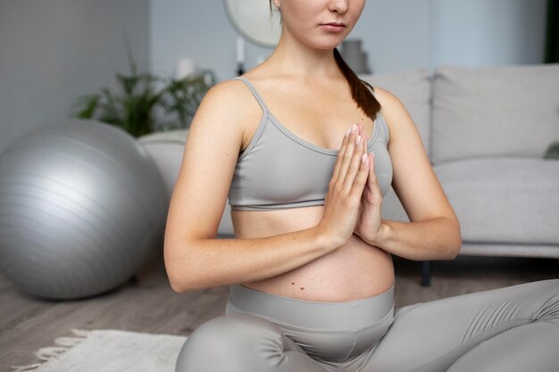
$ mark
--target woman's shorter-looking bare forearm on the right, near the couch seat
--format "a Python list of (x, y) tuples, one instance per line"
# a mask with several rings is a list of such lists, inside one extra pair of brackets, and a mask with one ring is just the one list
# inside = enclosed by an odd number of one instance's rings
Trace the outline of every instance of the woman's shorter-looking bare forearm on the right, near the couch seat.
[(452, 260), (462, 237), (455, 219), (438, 217), (418, 222), (382, 220), (375, 245), (407, 260)]

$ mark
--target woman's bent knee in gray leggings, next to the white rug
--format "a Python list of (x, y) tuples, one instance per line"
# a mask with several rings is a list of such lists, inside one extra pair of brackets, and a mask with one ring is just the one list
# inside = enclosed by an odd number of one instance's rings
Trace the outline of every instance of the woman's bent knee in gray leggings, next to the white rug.
[(279, 327), (263, 318), (243, 314), (213, 318), (188, 337), (176, 371), (257, 370), (270, 360), (263, 353), (281, 355), (283, 337)]

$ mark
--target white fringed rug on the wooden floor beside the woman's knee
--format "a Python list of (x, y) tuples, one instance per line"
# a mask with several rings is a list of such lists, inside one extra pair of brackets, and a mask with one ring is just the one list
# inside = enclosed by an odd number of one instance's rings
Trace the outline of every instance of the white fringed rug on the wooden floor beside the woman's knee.
[(187, 337), (113, 329), (72, 329), (56, 346), (35, 351), (42, 363), (13, 366), (13, 372), (172, 372)]

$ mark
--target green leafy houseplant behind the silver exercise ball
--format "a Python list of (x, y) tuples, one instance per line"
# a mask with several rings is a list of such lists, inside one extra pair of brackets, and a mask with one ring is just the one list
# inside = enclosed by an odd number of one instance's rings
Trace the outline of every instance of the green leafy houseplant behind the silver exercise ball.
[(139, 137), (154, 131), (188, 128), (205, 93), (213, 86), (213, 73), (184, 79), (138, 73), (129, 56), (129, 75), (116, 74), (119, 92), (104, 87), (82, 95), (73, 103), (72, 116), (113, 124)]

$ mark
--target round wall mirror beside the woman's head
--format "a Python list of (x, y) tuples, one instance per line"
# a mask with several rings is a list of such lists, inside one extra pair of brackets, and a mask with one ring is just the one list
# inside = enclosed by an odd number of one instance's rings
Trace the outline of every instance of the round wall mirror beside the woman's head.
[(281, 34), (280, 16), (272, 16), (265, 0), (223, 0), (229, 21), (248, 41), (274, 47)]

